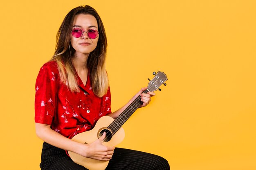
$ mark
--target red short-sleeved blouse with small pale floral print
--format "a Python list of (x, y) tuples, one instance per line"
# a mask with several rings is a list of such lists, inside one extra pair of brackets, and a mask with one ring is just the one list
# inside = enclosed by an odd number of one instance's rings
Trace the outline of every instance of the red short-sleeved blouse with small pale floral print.
[(97, 97), (89, 74), (86, 85), (80, 78), (78, 85), (80, 92), (70, 92), (60, 81), (56, 62), (45, 63), (36, 79), (35, 122), (50, 124), (53, 130), (72, 138), (92, 129), (100, 117), (111, 113), (109, 87), (105, 96)]

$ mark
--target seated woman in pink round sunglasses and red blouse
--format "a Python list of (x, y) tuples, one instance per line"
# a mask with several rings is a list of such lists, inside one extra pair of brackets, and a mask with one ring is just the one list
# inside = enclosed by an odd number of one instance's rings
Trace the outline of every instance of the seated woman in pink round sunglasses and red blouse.
[(106, 73), (106, 33), (98, 13), (90, 6), (72, 9), (56, 36), (52, 59), (40, 69), (36, 80), (36, 134), (43, 139), (40, 168), (85, 170), (65, 150), (83, 157), (109, 161), (106, 169), (169, 169), (157, 155), (102, 145), (106, 133), (91, 144), (71, 140), (94, 127), (102, 116), (117, 116), (137, 96), (148, 105), (153, 92), (142, 88), (124, 107), (110, 109)]

